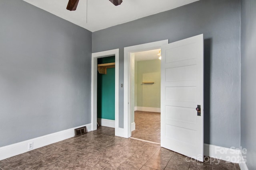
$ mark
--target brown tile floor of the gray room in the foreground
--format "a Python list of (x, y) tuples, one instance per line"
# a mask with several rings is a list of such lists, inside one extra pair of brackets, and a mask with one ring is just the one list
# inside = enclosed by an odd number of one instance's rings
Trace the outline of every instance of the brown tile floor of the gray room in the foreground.
[[(207, 158), (207, 157), (206, 157)], [(210, 161), (212, 160), (212, 161)], [(2, 170), (236, 170), (238, 164), (208, 158), (204, 163), (136, 139), (114, 136), (99, 127), (39, 149), (0, 160)]]

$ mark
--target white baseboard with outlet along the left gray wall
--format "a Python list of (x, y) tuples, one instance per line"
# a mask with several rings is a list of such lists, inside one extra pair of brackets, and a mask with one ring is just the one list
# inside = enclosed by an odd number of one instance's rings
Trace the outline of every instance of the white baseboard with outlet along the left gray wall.
[[(46, 145), (50, 145), (52, 143), (56, 143), (56, 142), (63, 141), (65, 139), (74, 137), (75, 136), (74, 129), (84, 127), (84, 126), (86, 126), (86, 130), (88, 132), (92, 131), (92, 123), (89, 123), (87, 125), (82, 125), (82, 126), (74, 127), (71, 129), (66, 129), (64, 131), (59, 131), (56, 133), (51, 133), (51, 134), (37, 137), (34, 139), (29, 139), (27, 141), (22, 141), (19, 143), (14, 143), (12, 145), (0, 147), (0, 160), (10, 158), (12, 156), (22, 154), (22, 153), (28, 152), (30, 150), (33, 150), (33, 149), (44, 147)], [(31, 143), (31, 142), (33, 142), (33, 149), (28, 150), (28, 143)]]

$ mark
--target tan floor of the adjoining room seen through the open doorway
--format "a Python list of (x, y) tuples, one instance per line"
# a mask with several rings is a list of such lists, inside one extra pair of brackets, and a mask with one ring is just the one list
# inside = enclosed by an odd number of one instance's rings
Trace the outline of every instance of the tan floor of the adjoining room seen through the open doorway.
[(136, 129), (132, 137), (146, 141), (161, 143), (160, 113), (149, 111), (135, 111), (134, 121)]

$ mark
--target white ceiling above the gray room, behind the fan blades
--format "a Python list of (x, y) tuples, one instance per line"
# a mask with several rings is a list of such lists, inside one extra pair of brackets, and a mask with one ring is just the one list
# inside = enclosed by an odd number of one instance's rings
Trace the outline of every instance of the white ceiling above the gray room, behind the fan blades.
[(66, 10), (68, 0), (24, 1), (94, 32), (198, 0), (123, 0), (119, 6), (114, 6), (109, 0), (79, 0), (76, 11)]

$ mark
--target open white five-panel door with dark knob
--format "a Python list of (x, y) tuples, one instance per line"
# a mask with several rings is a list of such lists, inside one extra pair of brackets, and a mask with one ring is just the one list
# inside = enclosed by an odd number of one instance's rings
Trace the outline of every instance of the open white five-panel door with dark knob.
[(161, 147), (199, 161), (204, 155), (203, 45), (201, 34), (161, 47)]

